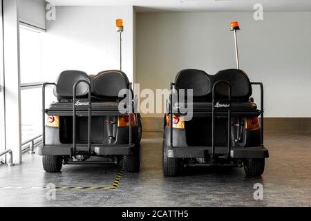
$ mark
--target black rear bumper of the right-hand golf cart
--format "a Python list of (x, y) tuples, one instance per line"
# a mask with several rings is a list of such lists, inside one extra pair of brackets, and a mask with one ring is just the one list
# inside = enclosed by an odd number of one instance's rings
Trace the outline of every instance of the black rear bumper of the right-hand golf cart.
[[(211, 155), (211, 146), (189, 146), (178, 147), (173, 146), (168, 148), (168, 157), (173, 158), (207, 158)], [(227, 147), (216, 146), (215, 155), (227, 155)], [(269, 152), (267, 148), (256, 147), (232, 147), (230, 151), (230, 158), (232, 159), (246, 159), (246, 158), (267, 158)]]

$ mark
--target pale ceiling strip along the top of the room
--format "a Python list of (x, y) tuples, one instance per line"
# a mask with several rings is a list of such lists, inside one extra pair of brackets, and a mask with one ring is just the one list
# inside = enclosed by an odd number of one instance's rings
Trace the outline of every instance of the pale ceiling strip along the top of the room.
[(47, 0), (55, 6), (137, 6), (140, 12), (254, 11), (255, 3), (270, 12), (311, 11), (310, 0)]

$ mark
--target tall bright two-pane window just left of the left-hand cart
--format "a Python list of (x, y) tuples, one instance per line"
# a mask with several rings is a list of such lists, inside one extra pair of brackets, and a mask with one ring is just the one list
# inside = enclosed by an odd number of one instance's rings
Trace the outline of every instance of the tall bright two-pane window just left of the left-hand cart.
[(21, 141), (41, 135), (41, 33), (19, 28), (21, 61)]

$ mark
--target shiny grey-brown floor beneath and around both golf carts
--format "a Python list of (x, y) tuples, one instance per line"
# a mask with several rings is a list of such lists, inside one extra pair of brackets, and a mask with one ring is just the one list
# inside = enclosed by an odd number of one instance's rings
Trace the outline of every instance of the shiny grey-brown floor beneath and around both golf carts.
[[(311, 133), (267, 133), (270, 151), (265, 173), (246, 178), (241, 168), (189, 169), (181, 177), (162, 175), (162, 133), (144, 133), (140, 173), (123, 173), (117, 189), (56, 190), (46, 186), (111, 186), (115, 165), (66, 165), (45, 173), (38, 155), (23, 164), (0, 166), (0, 206), (310, 206)], [(254, 184), (263, 184), (263, 200), (254, 200)]]

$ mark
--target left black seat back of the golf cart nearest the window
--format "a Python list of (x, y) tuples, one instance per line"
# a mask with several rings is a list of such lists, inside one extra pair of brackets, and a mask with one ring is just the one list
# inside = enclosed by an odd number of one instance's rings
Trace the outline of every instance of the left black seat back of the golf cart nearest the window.
[[(54, 87), (54, 95), (58, 100), (60, 99), (72, 99), (73, 98), (73, 86), (79, 80), (90, 81), (88, 75), (80, 70), (64, 70), (57, 77)], [(77, 97), (88, 96), (88, 85), (85, 83), (79, 83), (77, 85)]]

